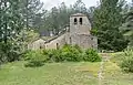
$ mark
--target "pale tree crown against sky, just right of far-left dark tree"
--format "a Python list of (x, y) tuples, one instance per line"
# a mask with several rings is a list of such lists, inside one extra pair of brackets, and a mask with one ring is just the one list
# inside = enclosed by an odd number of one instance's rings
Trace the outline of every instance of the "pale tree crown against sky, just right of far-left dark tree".
[[(24, 20), (25, 28), (35, 28), (34, 19), (38, 18), (43, 3), (40, 0), (21, 0), (21, 14)], [(38, 22), (39, 23), (39, 22)]]

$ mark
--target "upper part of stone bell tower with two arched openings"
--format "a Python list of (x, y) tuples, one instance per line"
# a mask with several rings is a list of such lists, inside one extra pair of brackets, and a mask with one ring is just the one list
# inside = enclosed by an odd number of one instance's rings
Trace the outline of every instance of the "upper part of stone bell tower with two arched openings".
[(71, 34), (90, 34), (91, 23), (86, 15), (82, 13), (72, 14), (70, 17)]

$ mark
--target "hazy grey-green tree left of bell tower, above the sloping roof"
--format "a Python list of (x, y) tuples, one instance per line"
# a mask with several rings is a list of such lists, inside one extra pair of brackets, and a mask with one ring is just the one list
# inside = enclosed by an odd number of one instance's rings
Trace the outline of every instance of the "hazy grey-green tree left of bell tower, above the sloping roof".
[(53, 7), (49, 13), (43, 18), (43, 26), (40, 31), (52, 31), (53, 34), (58, 35), (60, 31), (69, 24), (70, 13), (64, 2), (59, 7)]

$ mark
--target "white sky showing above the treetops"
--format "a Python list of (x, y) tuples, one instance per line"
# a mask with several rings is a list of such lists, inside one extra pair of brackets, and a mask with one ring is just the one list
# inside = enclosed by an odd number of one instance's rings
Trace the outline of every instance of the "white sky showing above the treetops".
[[(52, 7), (57, 7), (61, 2), (65, 2), (66, 6), (73, 4), (76, 0), (41, 0), (44, 2), (44, 9), (49, 10)], [(96, 6), (99, 0), (82, 0), (86, 7)], [(126, 0), (127, 2), (131, 2), (131, 0)]]

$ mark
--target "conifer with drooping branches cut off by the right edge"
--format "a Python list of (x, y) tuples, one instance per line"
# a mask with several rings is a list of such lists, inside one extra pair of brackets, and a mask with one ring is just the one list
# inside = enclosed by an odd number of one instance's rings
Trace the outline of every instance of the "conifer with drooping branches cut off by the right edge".
[(130, 41), (130, 46), (133, 46), (133, 3), (132, 6), (127, 4), (126, 6), (126, 11), (124, 10), (124, 23), (122, 24), (122, 26), (120, 28), (120, 30), (122, 31), (122, 33), (124, 34), (124, 36), (126, 39), (129, 39)]

